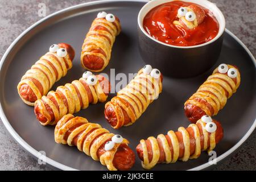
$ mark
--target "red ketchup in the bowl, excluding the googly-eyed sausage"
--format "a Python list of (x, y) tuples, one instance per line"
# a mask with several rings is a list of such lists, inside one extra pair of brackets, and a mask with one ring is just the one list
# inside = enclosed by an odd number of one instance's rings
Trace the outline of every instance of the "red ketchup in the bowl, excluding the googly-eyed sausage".
[[(218, 34), (219, 24), (208, 9), (199, 6), (205, 13), (204, 21), (193, 29), (175, 26), (177, 11), (180, 7), (196, 5), (195, 3), (172, 1), (156, 6), (147, 13), (143, 27), (152, 38), (174, 46), (196, 46), (209, 42)], [(196, 13), (196, 12), (195, 12)]]

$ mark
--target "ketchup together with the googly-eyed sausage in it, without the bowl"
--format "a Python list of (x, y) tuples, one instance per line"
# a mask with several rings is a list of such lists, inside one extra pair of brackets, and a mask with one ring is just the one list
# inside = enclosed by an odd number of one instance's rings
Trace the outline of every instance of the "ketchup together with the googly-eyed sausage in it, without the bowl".
[(210, 10), (191, 2), (172, 1), (154, 7), (143, 19), (146, 32), (174, 46), (196, 46), (214, 39), (219, 24)]

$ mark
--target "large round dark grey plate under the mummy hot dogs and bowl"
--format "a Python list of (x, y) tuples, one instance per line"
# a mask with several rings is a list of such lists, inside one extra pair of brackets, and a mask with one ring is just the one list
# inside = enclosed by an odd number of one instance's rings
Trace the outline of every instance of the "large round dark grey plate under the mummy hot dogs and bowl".
[[(46, 53), (48, 47), (59, 42), (71, 44), (76, 49), (76, 57), (72, 70), (52, 89), (55, 90), (59, 85), (80, 78), (84, 72), (80, 65), (81, 45), (92, 20), (101, 10), (117, 15), (122, 23), (122, 33), (117, 37), (112, 60), (104, 72), (109, 74), (110, 68), (115, 68), (116, 74), (137, 72), (144, 65), (137, 41), (137, 15), (144, 3), (145, 1), (100, 1), (59, 11), (28, 28), (7, 49), (0, 65), (0, 114), (11, 135), (32, 155), (38, 157), (38, 151), (45, 151), (47, 163), (60, 169), (106, 169), (100, 162), (95, 162), (76, 147), (55, 143), (54, 127), (43, 127), (39, 124), (33, 107), (20, 100), (16, 85), (27, 69)], [(214, 117), (222, 122), (225, 131), (224, 139), (216, 147), (218, 162), (241, 146), (256, 125), (255, 59), (241, 41), (228, 30), (225, 32), (220, 59), (214, 68), (220, 63), (236, 64), (240, 68), (242, 82), (237, 93)], [(163, 93), (159, 99), (148, 107), (134, 125), (117, 131), (105, 121), (105, 104), (91, 105), (76, 115), (86, 117), (90, 122), (100, 123), (113, 133), (123, 135), (130, 140), (130, 147), (135, 151), (140, 139), (166, 134), (168, 130), (177, 130), (179, 126), (189, 125), (184, 115), (183, 104), (212, 71), (213, 68), (204, 75), (183, 80), (164, 77)], [(158, 164), (154, 169), (204, 169), (209, 167), (208, 159), (209, 156), (203, 153), (196, 160)], [(142, 169), (138, 158), (133, 169)]]

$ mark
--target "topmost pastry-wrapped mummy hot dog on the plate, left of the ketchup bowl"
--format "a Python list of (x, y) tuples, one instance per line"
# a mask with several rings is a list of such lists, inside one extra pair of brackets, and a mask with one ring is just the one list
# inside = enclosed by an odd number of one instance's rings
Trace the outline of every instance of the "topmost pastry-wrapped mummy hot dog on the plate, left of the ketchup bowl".
[(82, 67), (93, 72), (102, 71), (109, 64), (115, 36), (120, 31), (117, 16), (104, 11), (98, 13), (82, 45)]

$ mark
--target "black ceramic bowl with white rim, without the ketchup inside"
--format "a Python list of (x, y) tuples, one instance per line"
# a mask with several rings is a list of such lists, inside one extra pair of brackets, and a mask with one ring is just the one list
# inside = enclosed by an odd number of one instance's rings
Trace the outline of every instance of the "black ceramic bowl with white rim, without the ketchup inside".
[(214, 14), (220, 25), (217, 36), (210, 42), (197, 46), (172, 46), (160, 42), (143, 28), (146, 14), (158, 5), (175, 0), (153, 0), (144, 5), (138, 15), (139, 51), (146, 64), (158, 68), (164, 76), (186, 78), (208, 71), (220, 56), (225, 31), (225, 18), (220, 9), (207, 0), (184, 0), (201, 5)]

